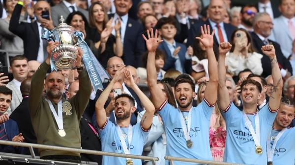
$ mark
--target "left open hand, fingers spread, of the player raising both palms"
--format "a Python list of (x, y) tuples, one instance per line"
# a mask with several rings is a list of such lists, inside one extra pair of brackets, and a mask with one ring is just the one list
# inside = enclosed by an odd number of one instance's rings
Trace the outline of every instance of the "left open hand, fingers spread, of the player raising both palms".
[(154, 52), (156, 51), (157, 47), (163, 42), (163, 40), (157, 41), (158, 30), (155, 31), (155, 35), (153, 34), (153, 29), (150, 29), (150, 34), (149, 34), (149, 30), (147, 30), (147, 33), (148, 33), (148, 39), (144, 34), (142, 36), (144, 40), (146, 41), (148, 51)]

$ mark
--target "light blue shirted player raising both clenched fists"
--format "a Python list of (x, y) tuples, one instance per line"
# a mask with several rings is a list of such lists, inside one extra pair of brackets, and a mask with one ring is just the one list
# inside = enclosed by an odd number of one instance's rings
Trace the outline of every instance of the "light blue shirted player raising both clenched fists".
[(247, 79), (240, 85), (241, 99), (243, 101), (243, 110), (240, 111), (231, 102), (225, 85), (225, 57), (230, 48), (229, 43), (221, 43), (218, 58), (218, 104), (226, 121), (227, 129), (224, 162), (266, 165), (266, 140), (280, 106), (283, 88), (283, 80), (275, 49), (273, 45), (261, 48), (271, 61), (273, 89), (268, 103), (259, 111), (257, 110), (257, 103), (262, 95), (262, 86), (253, 79)]

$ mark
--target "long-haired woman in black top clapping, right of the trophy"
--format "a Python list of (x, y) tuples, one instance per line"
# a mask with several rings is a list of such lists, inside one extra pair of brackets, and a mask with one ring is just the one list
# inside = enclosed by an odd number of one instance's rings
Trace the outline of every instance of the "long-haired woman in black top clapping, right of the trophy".
[[(123, 55), (123, 46), (120, 36), (120, 20), (116, 21), (112, 27), (113, 19), (108, 20), (105, 7), (99, 2), (94, 2), (89, 8), (89, 47), (100, 61), (103, 67), (107, 66), (107, 61), (113, 56)], [(112, 34), (115, 29), (116, 36)]]

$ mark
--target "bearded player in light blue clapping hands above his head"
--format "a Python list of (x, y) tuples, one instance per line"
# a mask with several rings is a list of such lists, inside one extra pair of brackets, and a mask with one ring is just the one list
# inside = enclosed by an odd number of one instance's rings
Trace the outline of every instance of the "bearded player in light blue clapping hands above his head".
[[(153, 63), (154, 64), (154, 63)], [(130, 87), (139, 97), (146, 109), (141, 122), (131, 126), (131, 114), (135, 112), (134, 98), (129, 94), (119, 94), (115, 98), (115, 116), (117, 125), (109, 122), (104, 105), (108, 99), (113, 86), (120, 79), (121, 74), (125, 75), (125, 84)], [(100, 94), (95, 104), (96, 121), (99, 128), (99, 135), (102, 143), (102, 151), (141, 155), (144, 144), (148, 137), (155, 108), (148, 97), (134, 83), (132, 74), (125, 65), (122, 65), (108, 85)], [(103, 156), (102, 165), (141, 165), (141, 160), (130, 158), (119, 158)]]

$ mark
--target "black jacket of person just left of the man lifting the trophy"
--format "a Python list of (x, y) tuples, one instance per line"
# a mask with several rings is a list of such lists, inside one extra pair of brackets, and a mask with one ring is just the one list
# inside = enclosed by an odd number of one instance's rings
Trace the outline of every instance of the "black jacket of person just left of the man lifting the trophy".
[[(28, 97), (23, 98), (21, 104), (12, 112), (9, 118), (17, 122), (19, 131), (25, 138), (24, 142), (37, 143), (37, 138), (29, 115)], [(39, 154), (38, 149), (35, 148), (34, 151), (36, 155)], [(29, 148), (24, 148), (23, 154), (30, 155)]]

